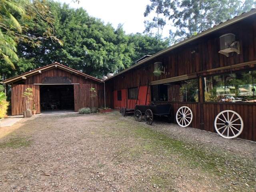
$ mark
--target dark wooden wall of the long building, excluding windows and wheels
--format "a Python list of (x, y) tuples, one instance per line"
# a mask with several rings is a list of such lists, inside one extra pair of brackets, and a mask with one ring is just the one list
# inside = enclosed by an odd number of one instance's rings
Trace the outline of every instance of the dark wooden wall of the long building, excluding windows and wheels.
[[(232, 53), (229, 57), (218, 53), (220, 51), (220, 36), (233, 33), (240, 44), (240, 54)], [(162, 62), (165, 67), (165, 74), (159, 77), (153, 75), (154, 62)], [(177, 102), (180, 100), (178, 87), (173, 85), (168, 90), (169, 103), (172, 103), (173, 122), (176, 123), (175, 114), (181, 106), (188, 106), (194, 113), (194, 119), (190, 124), (194, 128), (215, 132), (214, 118), (223, 110), (234, 110), (240, 114), (244, 121), (244, 130), (240, 138), (256, 141), (256, 104), (246, 103), (207, 103), (203, 100), (204, 86), (202, 78), (208, 75), (234, 73), (241, 70), (256, 70), (256, 16), (216, 30), (212, 34), (203, 36), (174, 50), (134, 67), (127, 72), (114, 76), (105, 83), (111, 91), (107, 96), (107, 102), (112, 104), (113, 91), (146, 86), (148, 80), (156, 82), (168, 78), (182, 76), (196, 77), (199, 80), (199, 102)], [(174, 80), (174, 81), (177, 81)], [(170, 79), (170, 82), (172, 80)], [(158, 84), (161, 84), (159, 82)], [(173, 100), (175, 98), (175, 100)], [(152, 101), (152, 98), (150, 98)], [(168, 102), (155, 102), (155, 104), (166, 104)], [(250, 114), (246, 113), (250, 111)]]

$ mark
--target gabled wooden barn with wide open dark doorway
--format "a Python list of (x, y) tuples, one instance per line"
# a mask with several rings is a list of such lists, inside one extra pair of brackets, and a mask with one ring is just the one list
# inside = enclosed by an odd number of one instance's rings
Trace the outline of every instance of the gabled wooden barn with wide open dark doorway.
[(26, 88), (32, 88), (34, 98), (30, 109), (35, 106), (37, 114), (41, 110), (77, 111), (83, 107), (91, 107), (90, 88), (95, 88), (98, 92), (95, 106), (98, 108), (104, 105), (102, 80), (57, 62), (4, 80), (3, 83), (11, 85), (12, 115), (20, 115), (26, 110), (23, 97)]

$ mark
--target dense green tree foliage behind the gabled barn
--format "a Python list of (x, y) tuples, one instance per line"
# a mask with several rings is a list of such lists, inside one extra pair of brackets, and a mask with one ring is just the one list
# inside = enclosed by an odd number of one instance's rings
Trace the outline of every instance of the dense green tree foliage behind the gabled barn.
[[(116, 29), (100, 19), (89, 16), (82, 8), (70, 8), (67, 4), (48, 1), (54, 34), (63, 45), (51, 38), (40, 38), (40, 43), (18, 42), (16, 70), (3, 60), (0, 75), (3, 79), (28, 70), (59, 62), (88, 75), (101, 78), (109, 72), (121, 71), (146, 54), (154, 54), (168, 46), (168, 41), (142, 35), (126, 35), (122, 25)], [(42, 37), (48, 28), (46, 20), (18, 18), (26, 26), (23, 36)]]

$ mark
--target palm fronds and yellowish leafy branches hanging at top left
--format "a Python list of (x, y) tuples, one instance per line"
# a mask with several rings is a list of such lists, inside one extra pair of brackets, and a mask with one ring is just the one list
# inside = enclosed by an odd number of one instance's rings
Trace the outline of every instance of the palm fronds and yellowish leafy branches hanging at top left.
[[(54, 27), (52, 17), (46, 6), (45, 0), (0, 0), (0, 56), (4, 61), (14, 69), (12, 59), (18, 60), (16, 55), (16, 42), (24, 41), (33, 46), (39, 45), (41, 39), (50, 38), (53, 42), (62, 44), (54, 36)], [(43, 20), (47, 25), (40, 36), (24, 35), (28, 25), (21, 25), (18, 19), (22, 17), (25, 20), (40, 22)]]

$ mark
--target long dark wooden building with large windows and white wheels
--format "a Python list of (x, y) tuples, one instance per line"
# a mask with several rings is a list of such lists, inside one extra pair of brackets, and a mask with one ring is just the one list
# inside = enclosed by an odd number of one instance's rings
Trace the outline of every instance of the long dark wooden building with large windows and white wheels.
[(104, 82), (112, 108), (129, 112), (136, 103), (171, 104), (172, 122), (180, 126), (256, 141), (256, 10), (170, 46)]

